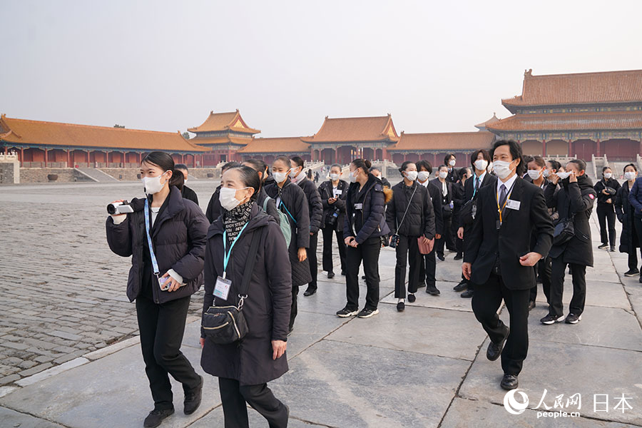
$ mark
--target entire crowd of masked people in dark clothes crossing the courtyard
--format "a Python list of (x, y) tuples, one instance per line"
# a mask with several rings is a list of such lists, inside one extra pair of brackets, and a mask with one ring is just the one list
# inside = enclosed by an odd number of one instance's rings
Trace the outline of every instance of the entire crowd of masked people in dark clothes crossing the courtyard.
[[(271, 165), (258, 159), (230, 162), (203, 213), (185, 185), (187, 166), (175, 165), (167, 153), (149, 153), (141, 163), (146, 198), (131, 200), (131, 212), (110, 215), (106, 223), (111, 250), (132, 256), (127, 295), (136, 301), (154, 400), (144, 426), (158, 427), (174, 412), (168, 374), (183, 384), (185, 414), (200, 405), (203, 379), (180, 343), (190, 296), (203, 284), (200, 364), (218, 377), (225, 427), (248, 427), (246, 403), (270, 427), (287, 426), (289, 409), (267, 382), (287, 372), (287, 337), (295, 329), (300, 287), (306, 286), (304, 297), (325, 291), (317, 281), (319, 232), (322, 271), (329, 279), (345, 277), (346, 303), (337, 317), (379, 313), (384, 247), (396, 252), (399, 312), (422, 287), (440, 295), (436, 266), (446, 260), (446, 250), (462, 260), (462, 280), (453, 290), (472, 298), (474, 315), (490, 338), (486, 357), (501, 357), (504, 389), (519, 384), (537, 283), (549, 306), (542, 325), (581, 320), (586, 267), (593, 265), (589, 218), (596, 200), (598, 248), (616, 250), (617, 218), (619, 250), (628, 253), (626, 275), (640, 274), (642, 178), (636, 165), (623, 169), (623, 185), (608, 167), (593, 185), (584, 161), (561, 165), (524, 156), (514, 141), (474, 151), (466, 163), (456, 168), (453, 154), (437, 168), (407, 161), (399, 168), (401, 180), (391, 186), (382, 170), (359, 158), (349, 168), (330, 165), (327, 180), (317, 186), (319, 173), (306, 170), (297, 156), (279, 156)], [(564, 316), (566, 267), (573, 297)], [(361, 268), (367, 291), (360, 303)], [(502, 301), (509, 325), (497, 315)], [(214, 326), (205, 323), (210, 315), (219, 317)], [(216, 324), (220, 317), (227, 322)]]

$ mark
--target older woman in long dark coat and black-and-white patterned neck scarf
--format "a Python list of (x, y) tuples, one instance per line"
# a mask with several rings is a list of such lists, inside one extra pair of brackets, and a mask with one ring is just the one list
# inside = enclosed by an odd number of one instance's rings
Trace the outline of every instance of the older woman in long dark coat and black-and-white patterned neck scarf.
[[(287, 372), (292, 277), (285, 238), (276, 221), (255, 203), (255, 192), (260, 188), (255, 170), (247, 166), (231, 168), (223, 174), (222, 185), (223, 190), (234, 189), (235, 193), (229, 201), (221, 199), (223, 215), (208, 230), (203, 312), (212, 305), (238, 305), (238, 287), (248, 270), (250, 243), (255, 233), (261, 238), (258, 253), (250, 260), (252, 276), (248, 297), (243, 301), (248, 334), (240, 342), (218, 345), (202, 330), (200, 365), (219, 378), (225, 427), (248, 427), (246, 402), (263, 414), (270, 427), (286, 427), (287, 407), (267, 387), (267, 382)], [(230, 259), (225, 266), (226, 252), (230, 252)], [(227, 300), (213, 294), (223, 272), (232, 282)]]

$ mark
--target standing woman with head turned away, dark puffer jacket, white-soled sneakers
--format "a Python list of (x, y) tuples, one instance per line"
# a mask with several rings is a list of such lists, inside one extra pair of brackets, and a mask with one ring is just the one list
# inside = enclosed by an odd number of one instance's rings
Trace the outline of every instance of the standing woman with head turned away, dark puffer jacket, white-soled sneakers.
[[(345, 286), (347, 303), (337, 317), (370, 318), (379, 310), (379, 252), (382, 237), (390, 232), (384, 215), (385, 205), (392, 198), (392, 190), (384, 188), (379, 178), (369, 173), (370, 161), (355, 159), (350, 163), (350, 188), (345, 200), (343, 222), (344, 242), (347, 246)], [(385, 238), (383, 238), (385, 240)], [(363, 261), (366, 277), (366, 304), (359, 310), (359, 267)], [(357, 313), (358, 312), (358, 313)]]

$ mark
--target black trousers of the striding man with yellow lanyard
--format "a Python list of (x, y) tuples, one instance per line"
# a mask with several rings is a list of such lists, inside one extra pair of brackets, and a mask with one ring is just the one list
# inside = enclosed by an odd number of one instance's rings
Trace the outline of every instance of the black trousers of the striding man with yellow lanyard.
[(511, 332), (501, 351), (501, 369), (504, 374), (517, 376), (529, 352), (529, 292), (528, 288), (509, 290), (502, 277), (494, 273), (491, 273), (485, 284), (477, 284), (475, 287), (473, 312), (492, 342), (501, 342), (506, 335), (506, 326), (497, 315), (502, 299), (509, 311)]

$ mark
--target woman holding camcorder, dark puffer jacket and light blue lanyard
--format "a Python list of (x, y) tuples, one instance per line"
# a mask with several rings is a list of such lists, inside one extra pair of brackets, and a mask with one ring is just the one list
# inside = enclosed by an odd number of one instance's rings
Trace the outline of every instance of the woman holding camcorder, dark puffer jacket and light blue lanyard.
[[(208, 220), (198, 205), (184, 199), (177, 185), (183, 174), (167, 153), (151, 152), (141, 163), (148, 198), (131, 200), (133, 213), (107, 219), (107, 242), (123, 257), (132, 256), (127, 296), (136, 300), (138, 329), (154, 409), (145, 427), (157, 427), (174, 412), (168, 373), (183, 384), (184, 412), (200, 405), (203, 378), (180, 352), (190, 296), (203, 279)], [(151, 243), (151, 245), (150, 245)]]

